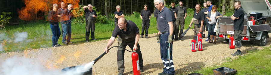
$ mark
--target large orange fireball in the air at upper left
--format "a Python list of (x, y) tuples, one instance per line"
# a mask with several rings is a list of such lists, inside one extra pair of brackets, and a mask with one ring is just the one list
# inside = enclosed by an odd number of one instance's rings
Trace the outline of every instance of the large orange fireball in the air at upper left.
[(23, 0), (25, 7), (22, 7), (18, 10), (19, 18), (22, 20), (37, 20), (42, 19), (44, 15), (48, 14), (48, 12), (52, 9), (53, 4), (58, 4), (58, 8), (60, 8), (60, 3), (64, 2), (66, 4), (73, 4), (73, 8), (79, 7), (79, 0)]

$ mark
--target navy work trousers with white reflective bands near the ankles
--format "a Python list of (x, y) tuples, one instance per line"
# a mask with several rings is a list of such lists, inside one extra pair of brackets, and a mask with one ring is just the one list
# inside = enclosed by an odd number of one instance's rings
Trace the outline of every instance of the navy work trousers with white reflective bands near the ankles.
[[(165, 34), (160, 35), (160, 55), (161, 55), (161, 59), (164, 64), (163, 73), (167, 73), (167, 74), (171, 75), (171, 74), (175, 73), (174, 64), (173, 64), (173, 60), (172, 60), (172, 45), (173, 45), (173, 43), (170, 44), (170, 61), (169, 61), (169, 60), (167, 60), (168, 43), (166, 43), (166, 41), (168, 40), (168, 35), (169, 35), (169, 33), (165, 33)], [(172, 39), (173, 39), (173, 37), (172, 37)]]

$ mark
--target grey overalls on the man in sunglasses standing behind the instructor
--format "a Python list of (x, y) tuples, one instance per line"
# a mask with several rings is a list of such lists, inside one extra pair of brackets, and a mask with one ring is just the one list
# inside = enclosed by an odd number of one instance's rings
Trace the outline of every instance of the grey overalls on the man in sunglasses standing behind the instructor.
[[(178, 12), (176, 13), (176, 16), (177, 16), (177, 19), (176, 19), (176, 31), (175, 31), (175, 37), (178, 37), (179, 35), (179, 39), (181, 39), (183, 36), (182, 36), (182, 33), (183, 33), (183, 28), (184, 28), (184, 23), (185, 23), (185, 19), (184, 19), (184, 16), (185, 16), (185, 13), (184, 13), (184, 6), (182, 6), (182, 8), (180, 6), (178, 6)], [(179, 30), (179, 26), (180, 26), (180, 33), (178, 32)], [(179, 34), (178, 34), (179, 33)]]

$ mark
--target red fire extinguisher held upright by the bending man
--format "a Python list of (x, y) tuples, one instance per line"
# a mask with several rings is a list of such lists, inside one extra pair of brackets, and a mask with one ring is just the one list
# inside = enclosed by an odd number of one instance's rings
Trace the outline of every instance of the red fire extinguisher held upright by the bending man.
[(133, 50), (133, 53), (132, 53), (132, 63), (133, 63), (134, 75), (140, 75), (139, 59), (138, 59), (138, 54), (136, 53), (135, 49)]

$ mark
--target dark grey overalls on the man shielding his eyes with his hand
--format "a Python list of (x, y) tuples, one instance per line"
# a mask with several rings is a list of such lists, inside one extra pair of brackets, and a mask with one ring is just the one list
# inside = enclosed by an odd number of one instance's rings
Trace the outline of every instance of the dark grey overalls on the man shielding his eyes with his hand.
[(91, 30), (91, 39), (95, 39), (94, 32), (95, 32), (96, 18), (93, 17), (92, 15), (94, 15), (94, 14), (89, 13), (89, 17), (86, 19), (86, 40), (89, 40), (90, 30)]

